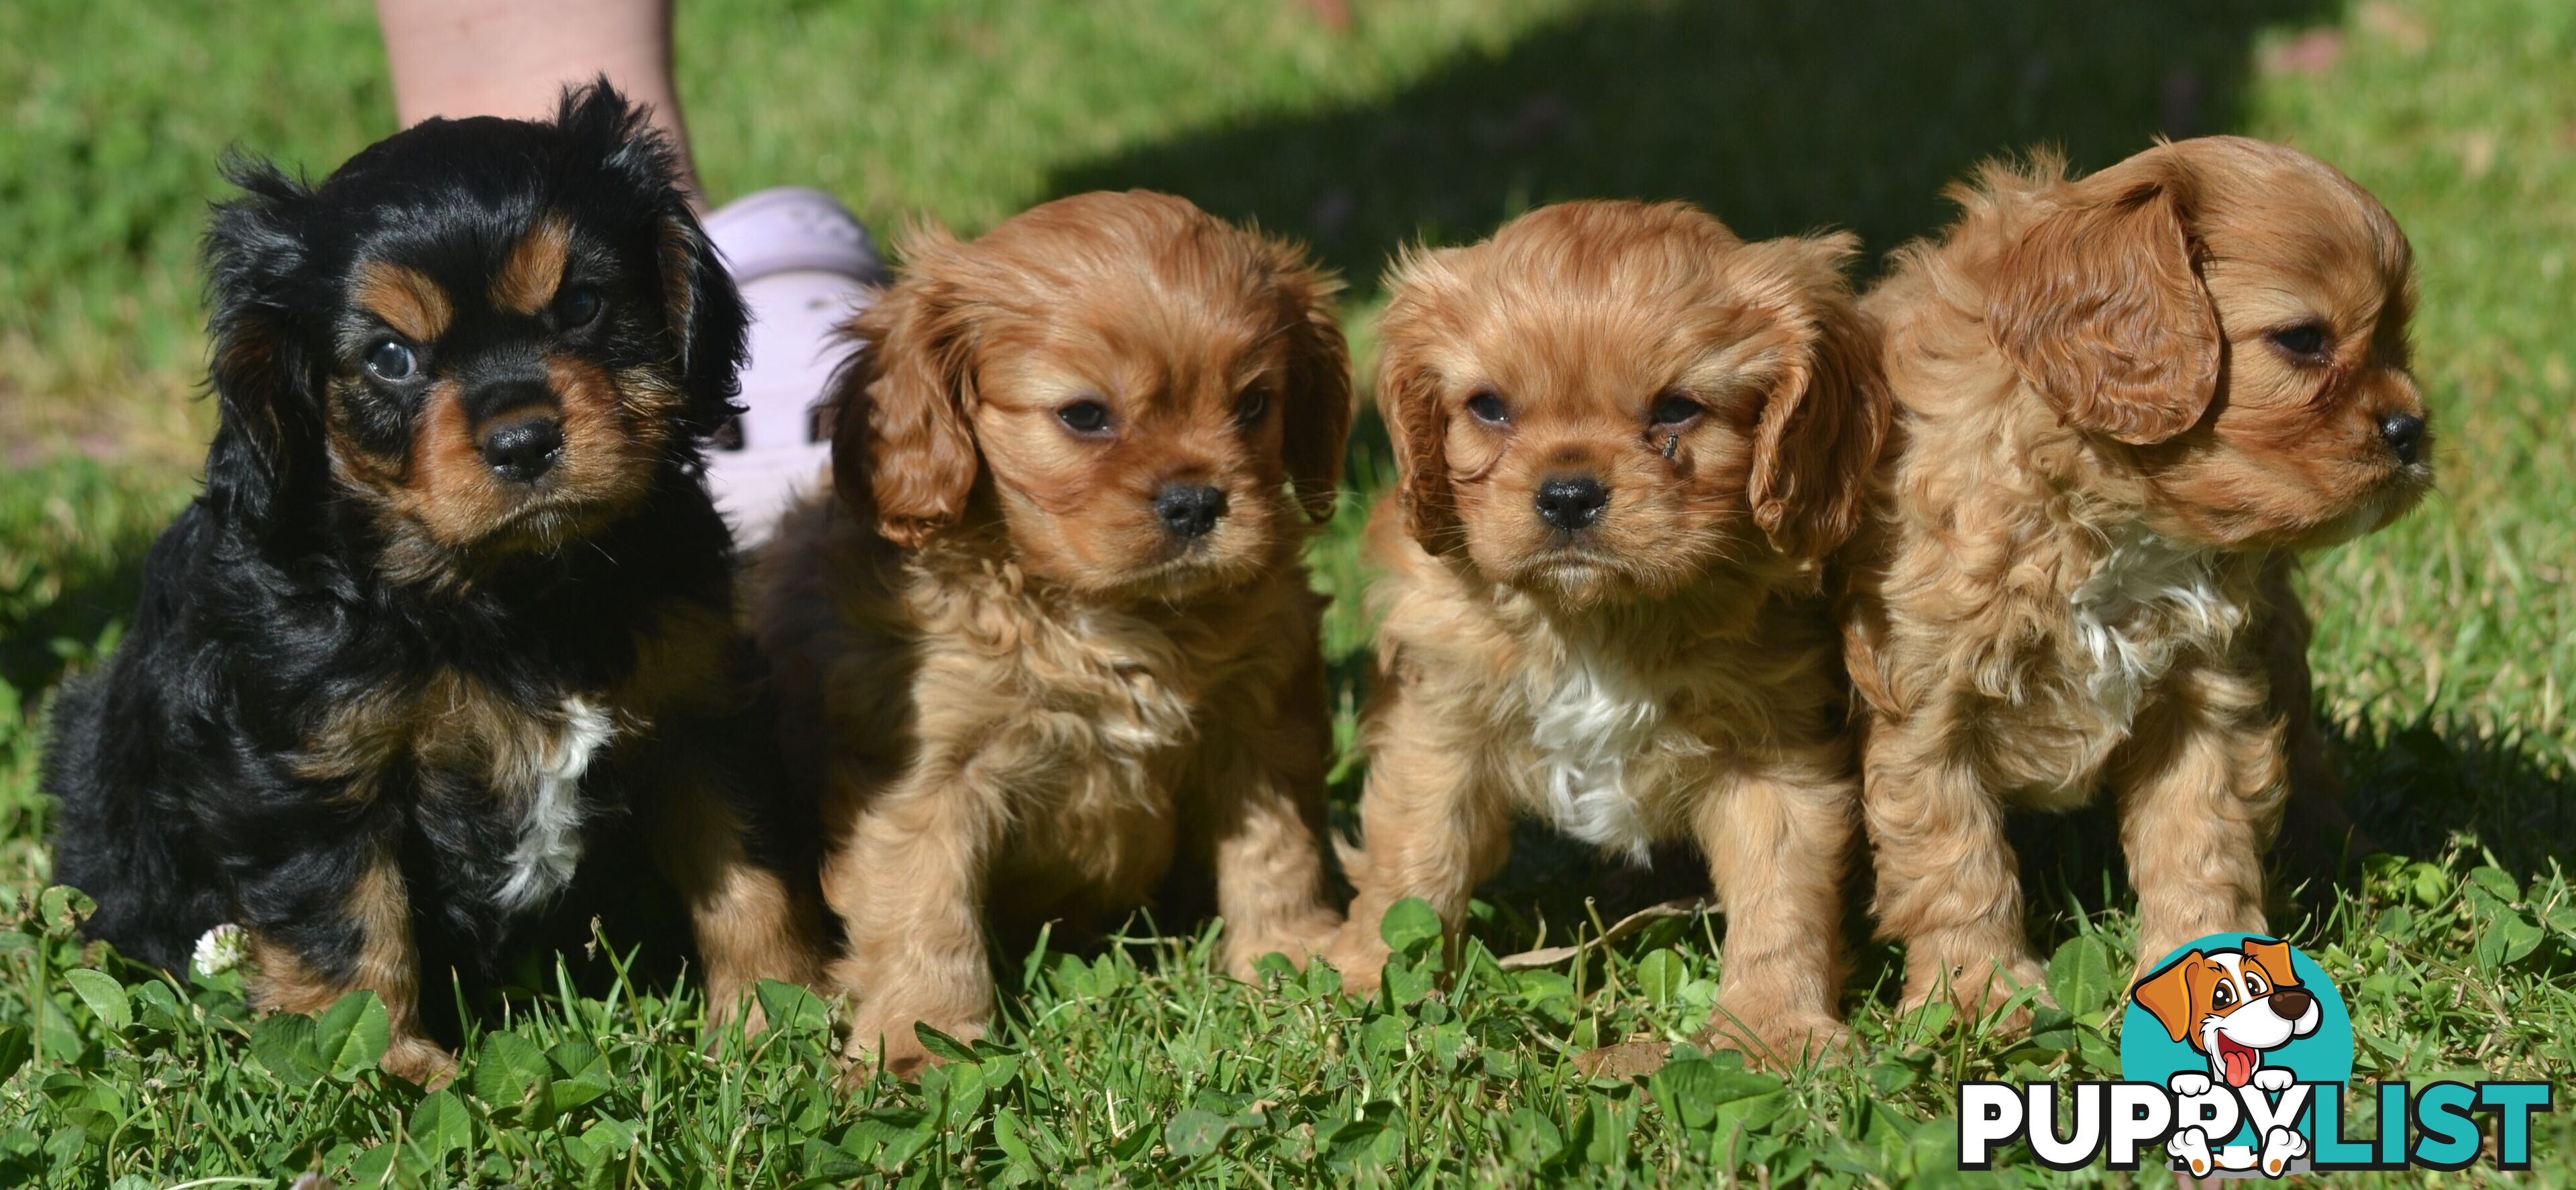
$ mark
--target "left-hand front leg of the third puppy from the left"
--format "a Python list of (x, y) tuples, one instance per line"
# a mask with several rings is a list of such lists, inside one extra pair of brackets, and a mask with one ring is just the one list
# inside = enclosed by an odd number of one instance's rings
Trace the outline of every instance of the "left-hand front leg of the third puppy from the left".
[(1386, 971), (1386, 909), (1419, 896), (1440, 912), (1450, 932), (1476, 891), (1512, 847), (1512, 811), (1492, 780), (1476, 770), (1473, 747), (1440, 747), (1406, 695), (1373, 732), (1368, 786), (1360, 791), (1363, 855), (1350, 860), (1350, 920), (1324, 958), (1342, 987), (1376, 992)]

